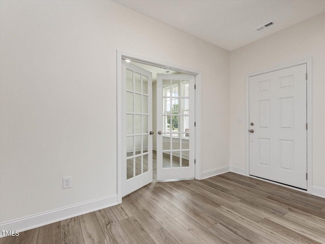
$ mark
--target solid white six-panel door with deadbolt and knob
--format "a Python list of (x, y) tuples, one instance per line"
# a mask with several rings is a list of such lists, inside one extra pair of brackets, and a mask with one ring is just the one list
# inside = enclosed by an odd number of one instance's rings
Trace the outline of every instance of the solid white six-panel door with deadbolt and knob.
[(249, 174), (307, 189), (306, 64), (249, 78)]

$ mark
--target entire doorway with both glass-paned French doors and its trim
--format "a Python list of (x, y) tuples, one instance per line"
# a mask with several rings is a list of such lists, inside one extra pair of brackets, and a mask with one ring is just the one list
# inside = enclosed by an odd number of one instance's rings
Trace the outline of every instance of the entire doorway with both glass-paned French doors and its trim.
[[(201, 72), (117, 52), (117, 192), (201, 178)], [(194, 127), (195, 126), (195, 127)]]

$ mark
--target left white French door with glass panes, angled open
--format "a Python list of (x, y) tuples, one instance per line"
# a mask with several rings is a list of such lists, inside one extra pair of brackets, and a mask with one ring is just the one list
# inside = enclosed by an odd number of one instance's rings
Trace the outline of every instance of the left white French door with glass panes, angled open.
[(152, 73), (122, 61), (125, 196), (152, 181)]

